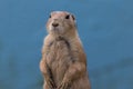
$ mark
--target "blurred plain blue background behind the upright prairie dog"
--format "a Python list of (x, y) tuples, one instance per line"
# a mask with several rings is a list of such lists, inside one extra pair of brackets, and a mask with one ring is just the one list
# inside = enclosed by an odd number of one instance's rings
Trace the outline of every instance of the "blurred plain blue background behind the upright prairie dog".
[(42, 89), (45, 22), (72, 12), (92, 89), (133, 89), (133, 0), (0, 0), (0, 89)]

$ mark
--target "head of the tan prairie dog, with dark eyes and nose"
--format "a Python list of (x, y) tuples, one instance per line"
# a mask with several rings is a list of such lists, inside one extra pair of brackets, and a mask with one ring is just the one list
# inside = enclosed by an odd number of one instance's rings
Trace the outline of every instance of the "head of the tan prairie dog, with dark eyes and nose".
[(63, 36), (75, 31), (75, 18), (66, 11), (53, 11), (47, 22), (50, 34)]

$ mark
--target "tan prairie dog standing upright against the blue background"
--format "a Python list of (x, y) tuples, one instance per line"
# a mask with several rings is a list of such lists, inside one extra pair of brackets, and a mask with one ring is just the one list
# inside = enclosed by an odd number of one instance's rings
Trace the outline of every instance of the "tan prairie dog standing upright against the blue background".
[(66, 11), (51, 12), (47, 30), (40, 61), (43, 89), (91, 89), (74, 16)]

